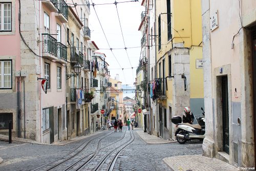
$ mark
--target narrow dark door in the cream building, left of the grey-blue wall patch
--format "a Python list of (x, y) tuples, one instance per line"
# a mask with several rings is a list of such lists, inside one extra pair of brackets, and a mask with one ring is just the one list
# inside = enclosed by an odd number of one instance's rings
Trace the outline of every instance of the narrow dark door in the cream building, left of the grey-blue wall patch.
[(228, 80), (222, 76), (222, 124), (223, 124), (223, 151), (229, 154), (229, 117), (228, 117)]

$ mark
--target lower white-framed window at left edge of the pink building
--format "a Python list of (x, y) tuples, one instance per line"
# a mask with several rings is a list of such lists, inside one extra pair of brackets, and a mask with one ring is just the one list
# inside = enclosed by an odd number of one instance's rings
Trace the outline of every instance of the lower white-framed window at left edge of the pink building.
[(0, 88), (12, 88), (12, 61), (0, 61)]

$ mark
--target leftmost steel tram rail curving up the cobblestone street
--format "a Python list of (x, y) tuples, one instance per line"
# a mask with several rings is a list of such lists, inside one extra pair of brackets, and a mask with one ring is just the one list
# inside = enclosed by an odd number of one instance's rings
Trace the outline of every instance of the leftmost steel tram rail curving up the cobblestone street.
[[(105, 138), (105, 137), (107, 137), (107, 136), (109, 136), (109, 135), (111, 135), (111, 134), (113, 134), (114, 133), (114, 131), (111, 131), (110, 133), (108, 133), (107, 135), (105, 135), (104, 137), (102, 137), (101, 139), (100, 139), (100, 141), (103, 139), (103, 138)], [(36, 171), (36, 170), (51, 170), (51, 169), (53, 169), (53, 168), (55, 168), (55, 167), (57, 167), (58, 165), (60, 165), (60, 164), (62, 164), (62, 163), (64, 163), (64, 162), (66, 162), (66, 161), (68, 161), (68, 160), (70, 160), (71, 158), (73, 158), (73, 157), (75, 157), (76, 155), (78, 155), (79, 153), (81, 153), (82, 151), (83, 151), (83, 149), (84, 148), (86, 148), (87, 146), (88, 146), (88, 144), (91, 142), (91, 141), (93, 141), (93, 140), (95, 140), (96, 138), (99, 138), (100, 136), (102, 136), (102, 134), (100, 134), (99, 136), (97, 136), (97, 137), (94, 137), (93, 139), (91, 139), (90, 141), (84, 141), (82, 144), (80, 144), (79, 146), (77, 146), (75, 149), (72, 149), (72, 151), (71, 152), (69, 152), (68, 154), (66, 154), (65, 156), (62, 156), (62, 157), (60, 157), (60, 158), (58, 158), (58, 159), (56, 159), (56, 160), (54, 160), (54, 161), (52, 161), (52, 162), (50, 162), (50, 163), (46, 163), (46, 164), (44, 164), (44, 165), (41, 165), (41, 166), (39, 166), (39, 167), (37, 167), (37, 168), (35, 168), (35, 169), (33, 169), (33, 170), (31, 170), (31, 171)], [(99, 141), (99, 142), (100, 142)], [(84, 146), (83, 146), (84, 145)], [(83, 147), (82, 147), (83, 146)], [(80, 148), (81, 147), (81, 149), (78, 149), (78, 148)], [(77, 153), (75, 153), (75, 151), (78, 149), (78, 152)], [(71, 156), (69, 156), (70, 154), (72, 154), (72, 153), (75, 153), (74, 155), (71, 155)], [(68, 158), (66, 158), (67, 156), (69, 156)], [(65, 159), (66, 158), (66, 159)], [(60, 162), (58, 162), (58, 161), (60, 161)], [(54, 162), (57, 162), (56, 164), (53, 164)], [(51, 166), (52, 165), (52, 166)], [(48, 167), (48, 166), (50, 166), (50, 167)]]

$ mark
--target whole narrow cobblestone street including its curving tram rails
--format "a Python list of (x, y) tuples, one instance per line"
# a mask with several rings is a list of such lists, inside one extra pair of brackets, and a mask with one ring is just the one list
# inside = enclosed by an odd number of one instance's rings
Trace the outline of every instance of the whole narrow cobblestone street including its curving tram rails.
[(163, 158), (202, 154), (199, 142), (147, 144), (138, 131), (124, 127), (66, 145), (1, 141), (0, 170), (170, 170)]

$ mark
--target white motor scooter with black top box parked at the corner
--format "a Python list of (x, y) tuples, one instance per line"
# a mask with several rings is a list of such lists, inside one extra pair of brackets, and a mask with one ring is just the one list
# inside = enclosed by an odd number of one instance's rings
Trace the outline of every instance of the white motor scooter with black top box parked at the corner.
[[(185, 142), (191, 140), (191, 139), (199, 139), (200, 141), (203, 141), (205, 137), (205, 122), (204, 122), (204, 110), (203, 116), (200, 115), (200, 117), (194, 118), (196, 119), (197, 124), (189, 124), (189, 123), (181, 123), (182, 118), (180, 116), (174, 116), (172, 118), (172, 122), (176, 124), (177, 130), (175, 132), (175, 136), (177, 141), (180, 144), (184, 144)], [(198, 115), (196, 115), (198, 116)]]

